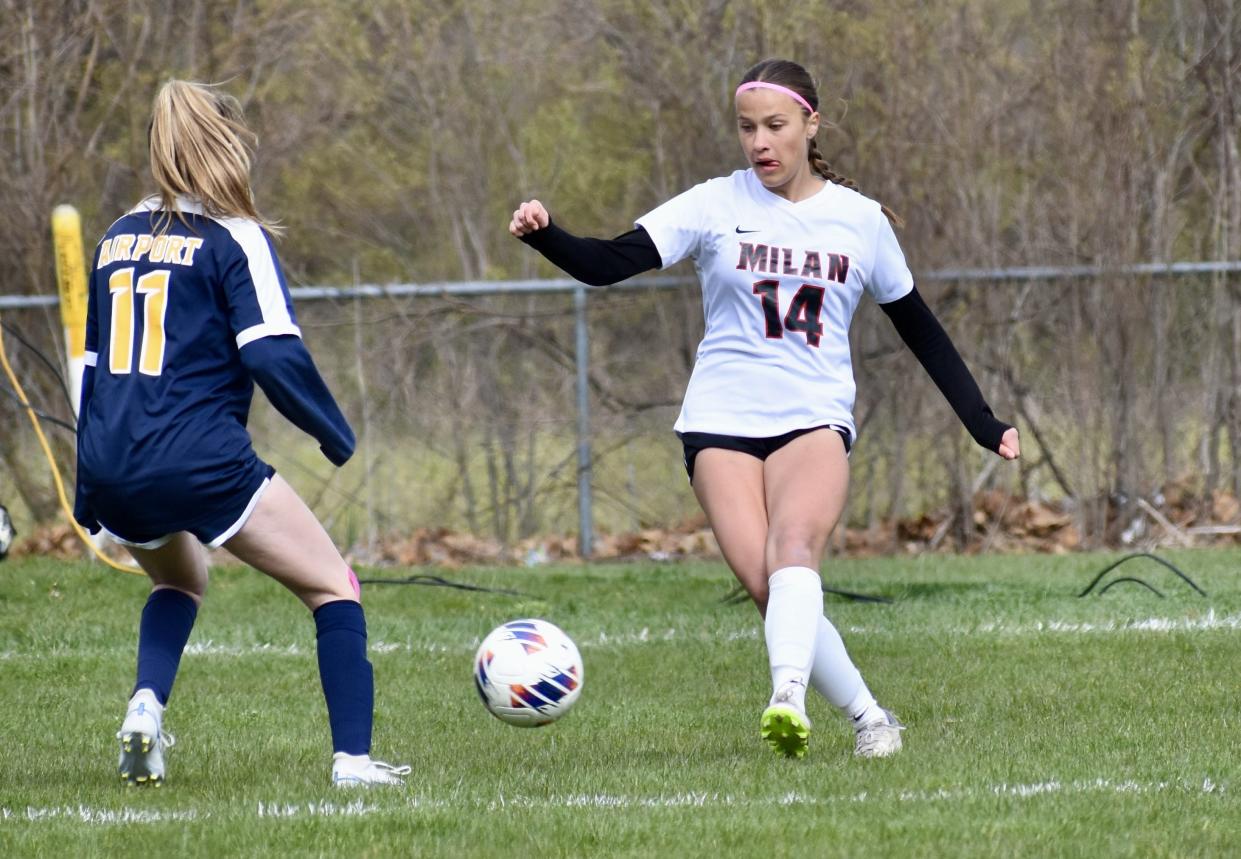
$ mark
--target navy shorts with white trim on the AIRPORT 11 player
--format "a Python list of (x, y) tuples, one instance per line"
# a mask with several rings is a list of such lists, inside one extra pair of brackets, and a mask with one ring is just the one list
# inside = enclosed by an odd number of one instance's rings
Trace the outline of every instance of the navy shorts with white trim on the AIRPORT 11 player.
[(232, 537), (254, 511), (276, 469), (257, 456), (211, 469), (139, 477), (114, 484), (79, 487), (102, 529), (117, 541), (159, 549), (189, 531), (215, 549)]

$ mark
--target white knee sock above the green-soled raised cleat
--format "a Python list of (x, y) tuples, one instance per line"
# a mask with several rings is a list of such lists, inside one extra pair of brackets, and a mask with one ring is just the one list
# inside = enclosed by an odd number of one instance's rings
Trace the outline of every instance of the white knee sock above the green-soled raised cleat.
[(798, 681), (800, 693), (794, 704), (805, 709), (805, 684), (814, 664), (814, 644), (823, 617), (823, 582), (810, 567), (783, 567), (767, 580), (767, 658), (772, 668), (772, 689)]

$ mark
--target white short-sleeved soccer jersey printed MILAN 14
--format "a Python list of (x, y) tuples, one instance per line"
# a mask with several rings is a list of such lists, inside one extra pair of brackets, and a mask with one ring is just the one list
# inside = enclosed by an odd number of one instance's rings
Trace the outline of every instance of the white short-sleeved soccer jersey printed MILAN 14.
[(752, 170), (695, 185), (638, 218), (666, 268), (692, 257), (706, 334), (678, 432), (769, 437), (833, 423), (856, 437), (849, 323), (865, 290), (913, 288), (874, 200), (828, 182), (798, 202)]

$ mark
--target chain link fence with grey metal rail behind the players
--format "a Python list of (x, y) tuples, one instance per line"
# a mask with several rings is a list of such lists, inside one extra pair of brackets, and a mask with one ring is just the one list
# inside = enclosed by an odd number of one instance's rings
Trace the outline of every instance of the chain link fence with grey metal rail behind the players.
[[(949, 509), (975, 541), (979, 493), (1056, 501), (1085, 545), (1114, 541), (1140, 503), (1239, 493), (1241, 263), (944, 271), (922, 290), (995, 413), (1023, 433), (1005, 465), (964, 434), (877, 309), (853, 326), (859, 443), (846, 521)], [(571, 281), (297, 289), (303, 335), (359, 436), (331, 468), (262, 396), (261, 456), (344, 545), (463, 531), (501, 545), (700, 519), (671, 433), (702, 329), (691, 277), (587, 289)], [(20, 307), (17, 307), (20, 305)], [(40, 411), (69, 420), (55, 298), (0, 299)], [(738, 391), (737, 396), (745, 396)], [(11, 396), (0, 499), (53, 515), (46, 464)], [(72, 470), (72, 434), (57, 453)], [(16, 495), (17, 498), (10, 498)], [(1216, 516), (1219, 518), (1219, 516)], [(898, 534), (889, 531), (890, 540)], [(895, 545), (892, 547), (896, 547)]]

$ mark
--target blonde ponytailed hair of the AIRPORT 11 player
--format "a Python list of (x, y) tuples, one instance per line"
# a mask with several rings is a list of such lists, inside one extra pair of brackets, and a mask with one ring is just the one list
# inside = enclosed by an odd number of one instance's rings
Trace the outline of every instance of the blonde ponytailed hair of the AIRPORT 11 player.
[(258, 138), (246, 125), (241, 104), (215, 86), (168, 81), (155, 93), (150, 125), (151, 176), (159, 187), (163, 232), (176, 215), (177, 196), (195, 197), (207, 215), (244, 217), (279, 233), (254, 209), (249, 163)]

